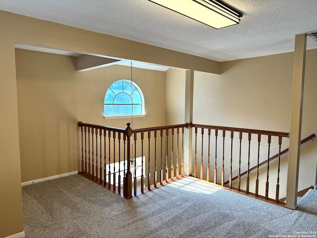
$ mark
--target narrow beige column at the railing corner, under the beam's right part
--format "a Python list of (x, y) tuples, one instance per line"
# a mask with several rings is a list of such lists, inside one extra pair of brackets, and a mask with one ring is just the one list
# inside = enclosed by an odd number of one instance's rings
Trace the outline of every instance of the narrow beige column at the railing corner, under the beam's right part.
[[(194, 70), (186, 70), (185, 83), (185, 123), (193, 122)], [(184, 174), (192, 175), (192, 128), (184, 133)]]

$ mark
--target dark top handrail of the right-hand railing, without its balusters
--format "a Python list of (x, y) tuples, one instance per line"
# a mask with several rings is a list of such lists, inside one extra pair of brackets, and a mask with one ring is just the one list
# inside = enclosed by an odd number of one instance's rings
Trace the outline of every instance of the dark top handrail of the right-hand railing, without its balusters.
[(278, 132), (278, 131), (269, 131), (269, 130), (256, 130), (256, 129), (246, 129), (246, 128), (216, 126), (216, 125), (202, 125), (202, 124), (193, 124), (193, 123), (190, 123), (190, 127), (207, 128), (207, 129), (215, 129), (215, 130), (225, 130), (225, 131), (236, 131), (236, 132), (271, 135), (271, 136), (289, 137), (289, 133), (288, 132)]

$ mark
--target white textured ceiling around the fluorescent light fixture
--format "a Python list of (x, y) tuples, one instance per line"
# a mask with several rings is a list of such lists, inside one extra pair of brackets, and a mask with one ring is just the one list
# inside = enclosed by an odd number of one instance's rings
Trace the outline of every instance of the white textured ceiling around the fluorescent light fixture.
[(292, 52), (295, 35), (317, 30), (317, 0), (224, 1), (243, 17), (218, 30), (148, 0), (0, 0), (0, 9), (218, 61)]

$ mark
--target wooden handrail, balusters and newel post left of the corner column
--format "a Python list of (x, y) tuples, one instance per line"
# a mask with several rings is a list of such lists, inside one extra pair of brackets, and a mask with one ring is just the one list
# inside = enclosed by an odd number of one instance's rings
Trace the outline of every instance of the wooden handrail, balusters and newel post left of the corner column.
[[(189, 123), (184, 123), (184, 124), (177, 124), (177, 125), (166, 125), (166, 126), (156, 126), (156, 127), (148, 127), (148, 128), (138, 128), (138, 129), (132, 129), (130, 127), (130, 122), (127, 123), (126, 128), (118, 128), (118, 127), (111, 127), (111, 126), (104, 126), (104, 125), (96, 125), (96, 124), (89, 124), (89, 123), (84, 123), (82, 121), (79, 121), (77, 123), (79, 127), (81, 127), (81, 162), (82, 162), (82, 174), (90, 178), (94, 181), (98, 181), (99, 184), (103, 184), (103, 186), (107, 187), (108, 189), (111, 189), (113, 191), (118, 190), (119, 193), (120, 191), (120, 185), (118, 185), (116, 189), (116, 178), (118, 179), (118, 184), (121, 184), (121, 175), (120, 173), (123, 171), (124, 177), (123, 177), (123, 196), (125, 198), (131, 198), (132, 197), (132, 173), (134, 173), (134, 195), (137, 195), (137, 176), (136, 176), (136, 170), (131, 171), (131, 159), (136, 157), (136, 139), (137, 133), (141, 133), (141, 150), (142, 150), (142, 175), (141, 175), (141, 184), (144, 184), (144, 175), (143, 175), (143, 139), (144, 139), (144, 132), (148, 132), (148, 140), (149, 140), (149, 148), (148, 148), (148, 156), (149, 156), (149, 169), (148, 169), (148, 189), (151, 188), (151, 173), (150, 173), (150, 138), (151, 138), (151, 132), (154, 131), (154, 136), (155, 140), (157, 137), (157, 131), (160, 131), (160, 138), (161, 138), (161, 149), (163, 146), (162, 143), (162, 135), (163, 135), (163, 130), (166, 130), (166, 144), (167, 144), (167, 137), (168, 137), (168, 130), (172, 129), (171, 136), (172, 136), (172, 148), (173, 148), (173, 135), (174, 135), (174, 129), (177, 129), (176, 132), (176, 137), (177, 137), (177, 143), (178, 141), (178, 136), (179, 136), (179, 129), (181, 129), (181, 137), (182, 137), (182, 144), (181, 147), (178, 147), (177, 144), (177, 149), (180, 149), (182, 155), (181, 155), (181, 163), (180, 163), (180, 168), (181, 168), (181, 174), (183, 176), (184, 174), (184, 166), (183, 166), (183, 136), (184, 136), (184, 128), (189, 126)], [(87, 135), (88, 131), (88, 135)], [(116, 134), (118, 133), (118, 134)], [(133, 144), (131, 144), (131, 135), (134, 134), (134, 145), (135, 145), (135, 150), (133, 151)], [(122, 136), (123, 135), (123, 136)], [(116, 139), (116, 136), (118, 139)], [(123, 138), (122, 138), (123, 137)], [(87, 141), (88, 138), (88, 141)], [(120, 157), (120, 138), (123, 139), (123, 156)], [(110, 148), (110, 140), (113, 140), (111, 147)], [(103, 143), (102, 143), (103, 142)], [(156, 143), (156, 142), (155, 142)], [(107, 148), (106, 148), (107, 145)], [(118, 149), (116, 150), (116, 145), (118, 145)], [(131, 146), (132, 145), (132, 146)], [(155, 144), (156, 146), (156, 144)], [(166, 158), (168, 156), (168, 150), (167, 150), (167, 145), (166, 145)], [(94, 150), (95, 149), (95, 150)], [(104, 151), (102, 151), (104, 149)], [(119, 169), (115, 169), (115, 163), (116, 163), (116, 151), (119, 154), (118, 157), (118, 163), (119, 163)], [(155, 147), (156, 151), (156, 147)], [(88, 154), (87, 154), (88, 152)], [(108, 154), (106, 155), (106, 152)], [(134, 152), (134, 155), (133, 155)], [(161, 150), (162, 152), (162, 150)], [(112, 153), (112, 154), (111, 154)], [(155, 152), (156, 153), (156, 152)], [(178, 152), (177, 152), (178, 153)], [(87, 156), (88, 155), (88, 156)], [(172, 156), (172, 161), (171, 164), (173, 164), (173, 155)], [(165, 157), (165, 155), (163, 155)], [(176, 177), (178, 178), (179, 176), (179, 167), (178, 167), (178, 154), (177, 154), (177, 164), (176, 166)], [(120, 158), (123, 160), (123, 170), (120, 170)], [(107, 159), (107, 161), (106, 161)], [(110, 164), (113, 161), (113, 173), (111, 173), (111, 168)], [(90, 163), (92, 162), (92, 163)], [(99, 162), (99, 163), (98, 163)], [(104, 166), (102, 165), (104, 163)], [(106, 165), (107, 164), (107, 165)], [(134, 164), (136, 166), (136, 163)], [(156, 162), (155, 162), (156, 165)], [(107, 166), (107, 168), (106, 168)], [(108, 171), (107, 171), (108, 170)], [(168, 182), (168, 160), (166, 159), (166, 175), (165, 179), (166, 182)], [(87, 173), (88, 172), (88, 173)], [(104, 172), (104, 173), (103, 173)], [(162, 154), (160, 156), (160, 184), (163, 184), (163, 166), (162, 166)], [(108, 176), (106, 176), (106, 174)], [(98, 178), (98, 175), (100, 175)], [(111, 175), (113, 176), (113, 179), (111, 179)], [(116, 177), (117, 176), (117, 177)], [(155, 187), (157, 186), (157, 169), (155, 167), (154, 171), (154, 181), (155, 181)], [(174, 179), (174, 172), (173, 172), (173, 166), (171, 166), (171, 180)], [(106, 182), (106, 179), (108, 180)], [(112, 180), (112, 184), (111, 184)], [(107, 185), (107, 186), (106, 186)], [(143, 186), (141, 188), (141, 192), (143, 192)]]

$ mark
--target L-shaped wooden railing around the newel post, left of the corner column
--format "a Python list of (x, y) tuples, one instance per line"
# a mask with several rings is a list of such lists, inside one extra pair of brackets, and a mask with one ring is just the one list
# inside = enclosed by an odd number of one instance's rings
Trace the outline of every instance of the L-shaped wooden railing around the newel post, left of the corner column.
[(78, 126), (81, 174), (126, 198), (133, 196), (132, 191), (136, 196), (138, 187), (141, 192), (144, 187), (157, 187), (158, 173), (159, 184), (184, 174), (184, 128), (188, 123), (141, 129), (127, 123), (123, 129), (80, 121)]

